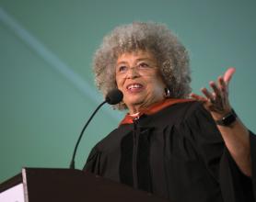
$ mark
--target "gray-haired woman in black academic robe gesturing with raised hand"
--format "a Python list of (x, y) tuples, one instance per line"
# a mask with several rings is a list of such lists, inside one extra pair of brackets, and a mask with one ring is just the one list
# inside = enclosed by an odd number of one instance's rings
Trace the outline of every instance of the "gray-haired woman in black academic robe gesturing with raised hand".
[(104, 95), (122, 91), (115, 107), (128, 114), (86, 171), (173, 201), (253, 201), (256, 139), (228, 102), (234, 68), (188, 99), (185, 48), (164, 25), (135, 22), (105, 37), (94, 71)]

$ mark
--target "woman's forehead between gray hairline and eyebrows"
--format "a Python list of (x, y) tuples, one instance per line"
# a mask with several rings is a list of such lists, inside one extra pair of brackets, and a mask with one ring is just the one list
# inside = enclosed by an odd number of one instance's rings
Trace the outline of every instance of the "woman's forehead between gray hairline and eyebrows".
[(134, 62), (137, 60), (150, 60), (152, 62), (157, 62), (156, 57), (148, 50), (134, 50), (129, 52), (124, 52), (117, 58), (117, 63), (120, 62)]

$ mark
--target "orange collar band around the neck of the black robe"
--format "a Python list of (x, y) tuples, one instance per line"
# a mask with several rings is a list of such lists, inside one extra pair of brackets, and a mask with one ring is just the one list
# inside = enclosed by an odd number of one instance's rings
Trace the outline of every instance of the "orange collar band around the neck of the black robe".
[(127, 113), (119, 125), (132, 124), (132, 123), (134, 123), (135, 119), (138, 119), (143, 115), (152, 115), (152, 114), (157, 113), (158, 111), (160, 111), (161, 109), (163, 109), (165, 107), (169, 107), (169, 106), (177, 104), (177, 103), (184, 103), (184, 102), (190, 102), (190, 101), (193, 101), (193, 100), (192, 99), (176, 99), (176, 98), (164, 99), (163, 101), (155, 103), (151, 107), (142, 109), (140, 112), (138, 112), (134, 115), (130, 115), (129, 113)]

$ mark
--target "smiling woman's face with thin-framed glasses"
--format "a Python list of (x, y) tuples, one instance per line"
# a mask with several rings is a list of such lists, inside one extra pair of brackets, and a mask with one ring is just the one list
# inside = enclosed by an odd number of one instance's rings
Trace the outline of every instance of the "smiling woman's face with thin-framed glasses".
[(121, 54), (116, 62), (116, 83), (131, 114), (164, 99), (166, 85), (149, 51)]

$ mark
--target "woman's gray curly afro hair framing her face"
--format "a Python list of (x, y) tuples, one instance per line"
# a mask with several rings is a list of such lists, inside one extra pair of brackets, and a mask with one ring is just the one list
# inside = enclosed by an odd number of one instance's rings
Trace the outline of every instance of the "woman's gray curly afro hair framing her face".
[[(95, 81), (103, 95), (117, 88), (115, 65), (124, 52), (147, 50), (157, 59), (158, 68), (172, 98), (185, 98), (191, 93), (189, 56), (169, 28), (154, 22), (134, 22), (114, 28), (96, 50), (93, 61)], [(127, 108), (124, 103), (114, 108)]]

